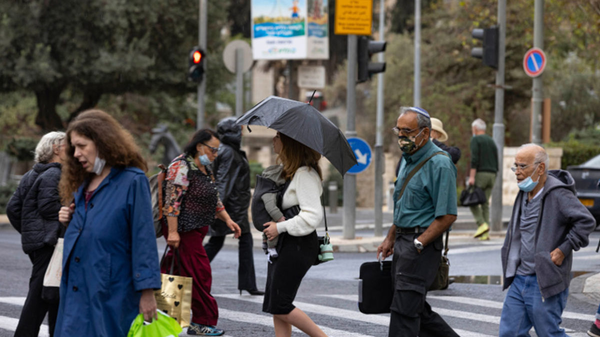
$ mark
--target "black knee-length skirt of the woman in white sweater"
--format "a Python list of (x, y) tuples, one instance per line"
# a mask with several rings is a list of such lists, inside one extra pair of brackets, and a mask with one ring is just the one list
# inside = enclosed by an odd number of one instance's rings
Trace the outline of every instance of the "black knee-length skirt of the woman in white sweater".
[(289, 314), (300, 282), (319, 254), (317, 232), (305, 236), (281, 233), (278, 257), (267, 269), (263, 311), (274, 315)]

